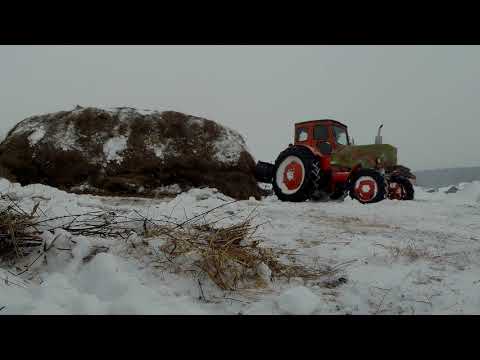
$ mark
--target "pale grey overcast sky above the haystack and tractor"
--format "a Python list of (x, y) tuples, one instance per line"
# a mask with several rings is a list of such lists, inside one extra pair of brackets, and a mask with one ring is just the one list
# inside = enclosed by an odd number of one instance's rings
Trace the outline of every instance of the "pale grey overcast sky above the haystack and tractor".
[(480, 46), (0, 46), (0, 130), (82, 106), (176, 110), (274, 161), (293, 124), (333, 118), (414, 170), (480, 166)]

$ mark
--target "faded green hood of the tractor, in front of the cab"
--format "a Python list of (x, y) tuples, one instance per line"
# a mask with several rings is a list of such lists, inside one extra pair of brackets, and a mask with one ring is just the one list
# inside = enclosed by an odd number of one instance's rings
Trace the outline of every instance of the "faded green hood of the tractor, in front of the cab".
[(332, 154), (331, 164), (352, 168), (360, 163), (362, 167), (374, 168), (380, 158), (385, 168), (397, 165), (397, 148), (388, 144), (349, 145)]

